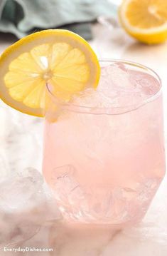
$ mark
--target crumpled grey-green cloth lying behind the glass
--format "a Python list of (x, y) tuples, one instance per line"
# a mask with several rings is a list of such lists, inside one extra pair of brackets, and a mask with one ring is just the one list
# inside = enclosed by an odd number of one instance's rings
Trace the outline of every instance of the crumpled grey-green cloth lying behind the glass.
[(0, 0), (0, 31), (21, 38), (38, 29), (65, 27), (91, 39), (90, 22), (114, 14), (116, 7), (107, 0)]

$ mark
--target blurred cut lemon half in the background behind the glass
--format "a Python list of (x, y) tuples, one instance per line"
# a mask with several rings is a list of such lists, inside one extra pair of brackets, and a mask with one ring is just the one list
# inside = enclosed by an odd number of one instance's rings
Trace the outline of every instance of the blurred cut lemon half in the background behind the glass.
[(119, 8), (124, 29), (144, 43), (162, 43), (167, 39), (167, 1), (124, 0)]

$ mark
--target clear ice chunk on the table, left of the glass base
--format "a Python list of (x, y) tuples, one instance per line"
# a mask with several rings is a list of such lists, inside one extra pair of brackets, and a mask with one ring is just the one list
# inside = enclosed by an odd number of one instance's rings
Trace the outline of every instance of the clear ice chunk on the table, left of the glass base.
[(0, 208), (14, 212), (30, 208), (41, 199), (41, 174), (33, 168), (11, 175), (0, 185)]

